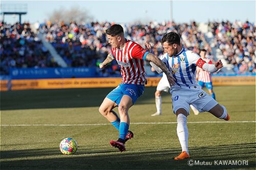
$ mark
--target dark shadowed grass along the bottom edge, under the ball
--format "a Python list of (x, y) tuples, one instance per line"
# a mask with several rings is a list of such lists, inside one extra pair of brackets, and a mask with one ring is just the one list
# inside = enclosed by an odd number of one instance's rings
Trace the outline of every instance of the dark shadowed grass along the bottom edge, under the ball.
[[(255, 144), (241, 143), (191, 148), (190, 159), (212, 165), (188, 166), (188, 159), (173, 160), (179, 148), (117, 151), (86, 151), (61, 155), (57, 149), (1, 151), (1, 169), (254, 169)], [(248, 165), (215, 165), (215, 160), (248, 160)]]

